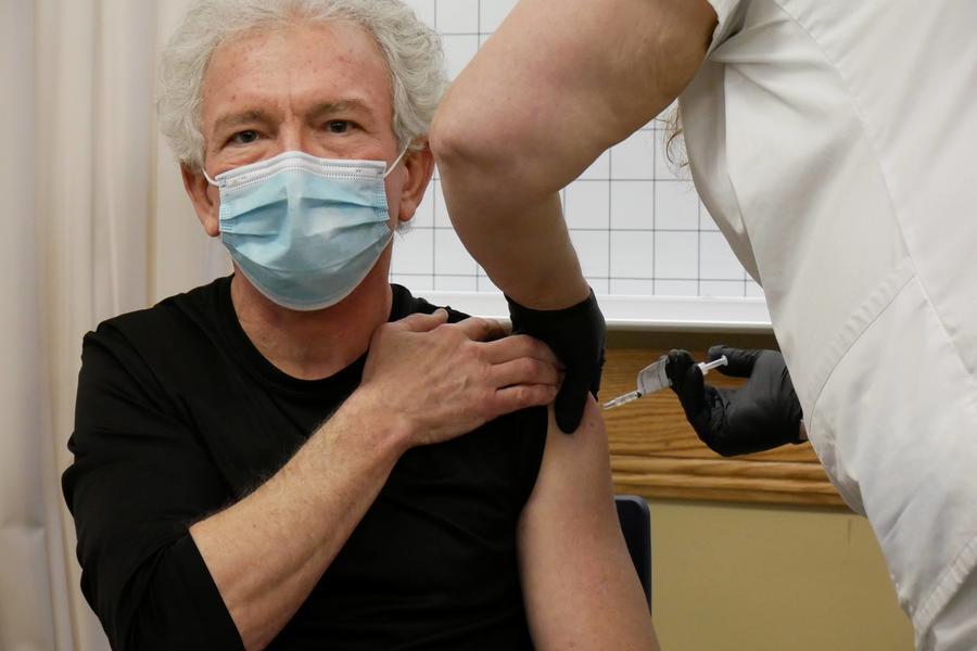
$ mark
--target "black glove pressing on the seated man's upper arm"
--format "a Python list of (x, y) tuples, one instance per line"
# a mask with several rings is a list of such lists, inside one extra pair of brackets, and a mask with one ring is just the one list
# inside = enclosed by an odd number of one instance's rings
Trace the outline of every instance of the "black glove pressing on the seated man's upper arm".
[(597, 396), (607, 323), (594, 297), (563, 309), (531, 309), (508, 296), (513, 334), (529, 334), (547, 344), (567, 367), (556, 399), (556, 419), (560, 430), (570, 434), (580, 426), (587, 392)]

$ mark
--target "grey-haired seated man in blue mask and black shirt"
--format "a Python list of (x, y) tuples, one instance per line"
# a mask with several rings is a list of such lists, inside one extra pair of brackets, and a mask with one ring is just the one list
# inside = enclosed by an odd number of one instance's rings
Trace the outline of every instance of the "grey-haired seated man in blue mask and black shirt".
[(163, 128), (234, 273), (86, 336), (64, 492), (120, 649), (656, 646), (551, 352), (388, 282), (431, 178), (434, 35), (394, 0), (212, 0)]

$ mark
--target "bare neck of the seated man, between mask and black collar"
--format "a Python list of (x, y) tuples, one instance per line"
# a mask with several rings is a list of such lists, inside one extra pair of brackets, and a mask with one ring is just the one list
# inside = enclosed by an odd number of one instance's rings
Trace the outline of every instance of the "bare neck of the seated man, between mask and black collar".
[(231, 281), (231, 301), (241, 328), (268, 361), (293, 378), (319, 380), (358, 359), (373, 331), (386, 322), (393, 294), (386, 273), (375, 271), (352, 294), (320, 310), (276, 305), (240, 272)]

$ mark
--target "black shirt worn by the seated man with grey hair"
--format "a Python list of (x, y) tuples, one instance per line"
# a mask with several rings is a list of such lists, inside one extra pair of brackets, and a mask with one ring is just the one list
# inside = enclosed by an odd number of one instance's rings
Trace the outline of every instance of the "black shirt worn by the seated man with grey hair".
[[(393, 289), (391, 320), (433, 311)], [(62, 482), (81, 588), (114, 648), (241, 648), (189, 526), (283, 465), (364, 361), (317, 381), (281, 372), (241, 329), (230, 278), (86, 335)], [(270, 648), (531, 648), (516, 525), (545, 432), (532, 409), (406, 452)]]

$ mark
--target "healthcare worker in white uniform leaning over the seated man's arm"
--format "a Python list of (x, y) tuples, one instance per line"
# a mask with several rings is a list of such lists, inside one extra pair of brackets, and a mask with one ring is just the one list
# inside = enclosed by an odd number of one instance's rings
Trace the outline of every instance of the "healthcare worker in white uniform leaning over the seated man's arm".
[(461, 240), (573, 391), (596, 385), (602, 322), (558, 191), (676, 98), (696, 188), (763, 285), (807, 435), (917, 647), (977, 649), (977, 2), (519, 2), (432, 146)]

